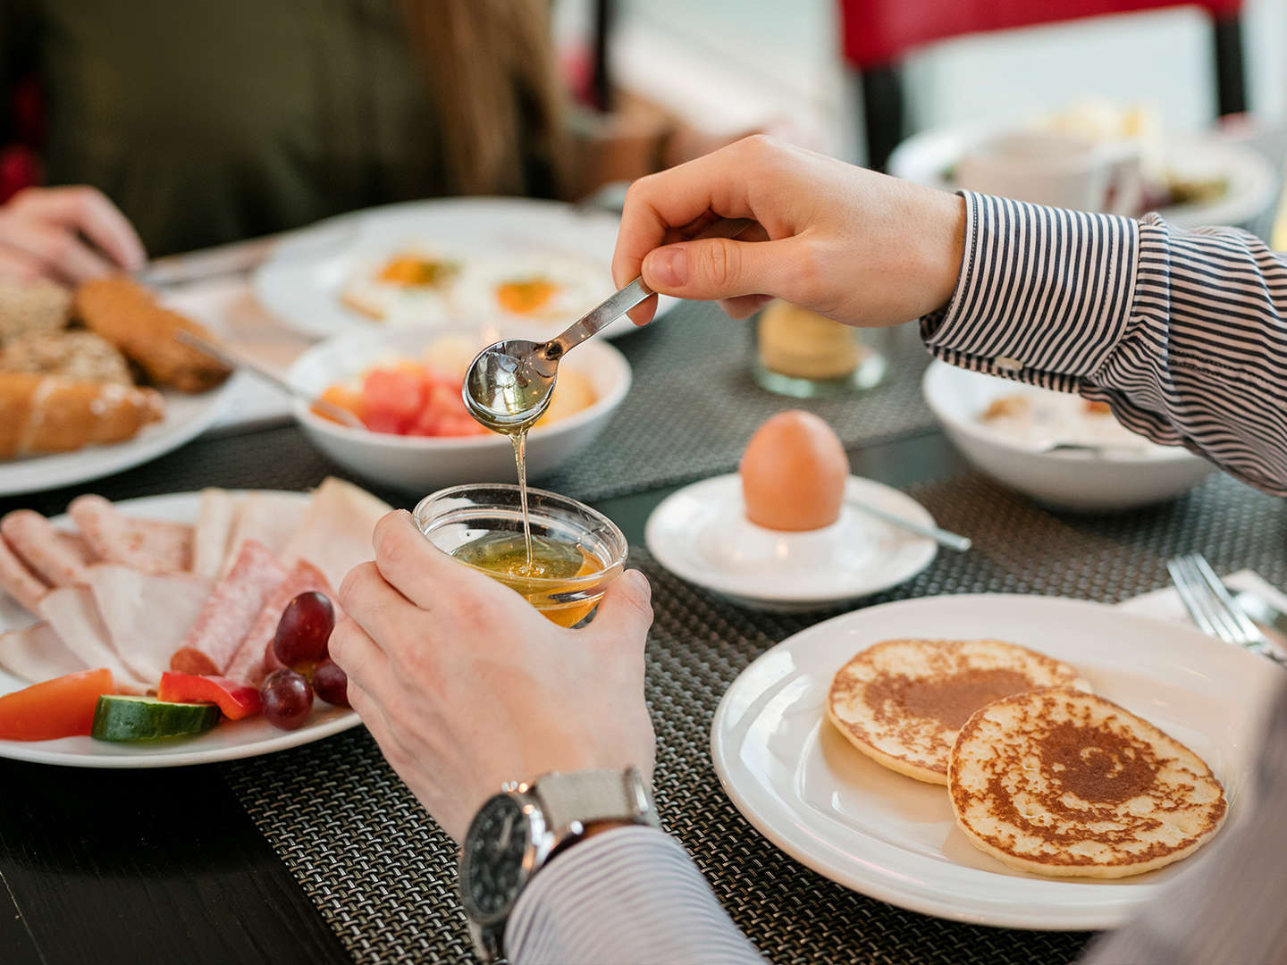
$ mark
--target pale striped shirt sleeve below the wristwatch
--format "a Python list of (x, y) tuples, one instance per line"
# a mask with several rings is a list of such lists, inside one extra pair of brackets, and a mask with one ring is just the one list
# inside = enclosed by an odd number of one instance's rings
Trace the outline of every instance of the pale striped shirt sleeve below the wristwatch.
[(515, 965), (763, 965), (673, 838), (595, 835), (543, 867), (505, 930)]

